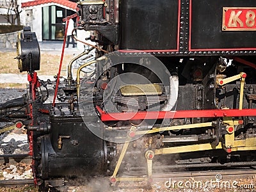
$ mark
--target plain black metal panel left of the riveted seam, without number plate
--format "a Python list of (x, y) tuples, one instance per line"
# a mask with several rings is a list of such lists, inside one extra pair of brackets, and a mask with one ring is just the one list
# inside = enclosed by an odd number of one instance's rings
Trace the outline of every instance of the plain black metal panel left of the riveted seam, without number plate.
[(178, 0), (120, 1), (120, 49), (177, 49)]

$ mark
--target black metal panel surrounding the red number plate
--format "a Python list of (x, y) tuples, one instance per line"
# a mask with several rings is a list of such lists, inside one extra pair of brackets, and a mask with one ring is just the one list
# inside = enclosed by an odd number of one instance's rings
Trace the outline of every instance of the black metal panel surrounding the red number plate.
[(191, 49), (256, 47), (256, 31), (222, 31), (223, 7), (253, 7), (255, 1), (191, 0)]

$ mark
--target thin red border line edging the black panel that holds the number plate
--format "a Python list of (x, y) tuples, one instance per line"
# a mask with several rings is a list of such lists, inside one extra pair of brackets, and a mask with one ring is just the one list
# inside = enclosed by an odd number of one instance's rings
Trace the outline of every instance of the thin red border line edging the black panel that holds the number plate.
[[(221, 19), (221, 24), (222, 24), (222, 19)], [(227, 48), (227, 49), (221, 49), (221, 48), (191, 49), (191, 26), (192, 26), (192, 0), (189, 0), (189, 45), (188, 45), (189, 51), (248, 51), (248, 50), (256, 50), (256, 47), (254, 47), (254, 48)]]

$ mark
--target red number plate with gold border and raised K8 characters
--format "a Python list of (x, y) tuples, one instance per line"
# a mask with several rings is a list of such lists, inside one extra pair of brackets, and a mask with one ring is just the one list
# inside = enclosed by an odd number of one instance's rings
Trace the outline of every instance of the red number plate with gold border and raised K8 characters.
[(256, 7), (223, 7), (222, 31), (256, 31)]

